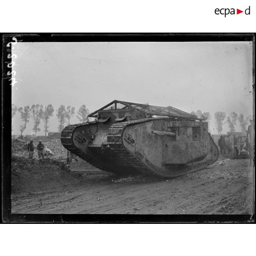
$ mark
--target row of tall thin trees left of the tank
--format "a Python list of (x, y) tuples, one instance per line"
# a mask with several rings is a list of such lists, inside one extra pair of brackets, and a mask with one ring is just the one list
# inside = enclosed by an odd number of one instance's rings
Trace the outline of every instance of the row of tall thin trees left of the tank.
[[(15, 116), (16, 112), (19, 112), (21, 115), (22, 125), (20, 125), (20, 132), (21, 135), (25, 131), (27, 124), (29, 122), (29, 119), (32, 117), (34, 121), (33, 131), (35, 135), (37, 132), (40, 132), (41, 129), (39, 128), (39, 124), (41, 121), (44, 121), (44, 131), (45, 136), (48, 132), (48, 124), (50, 117), (54, 114), (54, 107), (50, 104), (48, 106), (43, 106), (40, 104), (32, 105), (30, 106), (24, 106), (23, 108), (18, 108), (16, 105), (11, 105), (11, 119)], [(70, 119), (75, 115), (75, 108), (72, 106), (64, 106), (61, 105), (57, 109), (56, 116), (59, 121), (58, 131), (61, 132), (64, 128), (65, 123), (68, 125), (70, 124)], [(89, 115), (89, 109), (86, 108), (85, 105), (81, 106), (77, 112), (77, 117), (80, 122), (87, 122), (88, 121), (88, 115)]]

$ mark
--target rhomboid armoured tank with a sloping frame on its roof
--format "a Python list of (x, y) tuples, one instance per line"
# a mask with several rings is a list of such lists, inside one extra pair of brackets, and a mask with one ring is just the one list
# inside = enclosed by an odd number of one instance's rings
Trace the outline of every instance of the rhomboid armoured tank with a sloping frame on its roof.
[(177, 177), (218, 159), (205, 118), (171, 106), (114, 100), (89, 117), (65, 127), (61, 143), (106, 172)]

